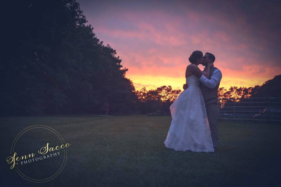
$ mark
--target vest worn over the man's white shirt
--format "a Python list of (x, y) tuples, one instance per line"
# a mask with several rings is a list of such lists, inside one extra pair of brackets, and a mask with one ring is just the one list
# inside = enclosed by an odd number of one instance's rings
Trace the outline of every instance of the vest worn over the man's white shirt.
[[(210, 69), (210, 76), (209, 79), (211, 78), (211, 76), (213, 75), (213, 72), (216, 70), (216, 67), (212, 67)], [(213, 89), (210, 89), (209, 87), (205, 86), (202, 82), (200, 82), (200, 88), (202, 91), (202, 95), (205, 101), (205, 105), (207, 104), (212, 104), (215, 103), (217, 104), (217, 90), (219, 89), (220, 86), (220, 82), (217, 84), (217, 86)]]

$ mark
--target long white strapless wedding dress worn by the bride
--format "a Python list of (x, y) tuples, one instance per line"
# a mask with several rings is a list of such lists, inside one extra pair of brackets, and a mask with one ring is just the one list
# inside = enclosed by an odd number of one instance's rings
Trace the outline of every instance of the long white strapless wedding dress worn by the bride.
[(170, 106), (172, 122), (165, 146), (177, 151), (214, 152), (200, 80), (186, 77), (189, 87)]

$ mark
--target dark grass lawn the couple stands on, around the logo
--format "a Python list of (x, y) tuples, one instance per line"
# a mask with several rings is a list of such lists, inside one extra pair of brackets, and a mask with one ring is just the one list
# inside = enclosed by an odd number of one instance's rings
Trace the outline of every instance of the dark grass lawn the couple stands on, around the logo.
[[(281, 186), (281, 123), (219, 122), (216, 153), (168, 149), (171, 117), (1, 117), (1, 186)], [(16, 135), (31, 125), (54, 128), (66, 143), (62, 172), (32, 183), (6, 158)], [(37, 171), (37, 170), (36, 170)]]

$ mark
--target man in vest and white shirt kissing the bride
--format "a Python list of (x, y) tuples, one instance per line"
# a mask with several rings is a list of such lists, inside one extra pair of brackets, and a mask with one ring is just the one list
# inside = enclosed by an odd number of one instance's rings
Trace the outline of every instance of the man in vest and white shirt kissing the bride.
[[(203, 57), (203, 63), (207, 67), (208, 63), (215, 62), (215, 56), (211, 53), (205, 53)], [(219, 132), (217, 129), (217, 119), (218, 119), (218, 105), (217, 105), (217, 90), (220, 86), (220, 80), (222, 79), (222, 72), (216, 68), (212, 67), (210, 69), (210, 76), (207, 79), (202, 76), (202, 71), (199, 67), (193, 67), (192, 72), (199, 77), (200, 88), (205, 101), (206, 112), (209, 120), (211, 136), (213, 140), (214, 150), (217, 151), (217, 143), (219, 141)], [(204, 71), (205, 73), (205, 68)], [(188, 84), (184, 84), (183, 89), (187, 89)]]

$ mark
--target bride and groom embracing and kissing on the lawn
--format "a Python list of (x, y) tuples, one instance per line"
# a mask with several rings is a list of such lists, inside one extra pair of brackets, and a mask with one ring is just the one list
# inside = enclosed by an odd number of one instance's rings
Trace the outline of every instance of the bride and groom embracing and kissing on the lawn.
[[(165, 147), (177, 151), (215, 152), (219, 141), (217, 129), (217, 90), (222, 72), (214, 67), (212, 53), (193, 51), (186, 67), (184, 91), (170, 106), (172, 122)], [(199, 64), (205, 66), (201, 71)]]

